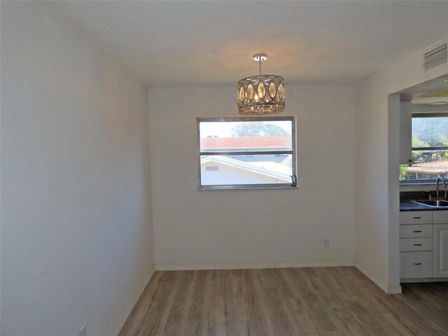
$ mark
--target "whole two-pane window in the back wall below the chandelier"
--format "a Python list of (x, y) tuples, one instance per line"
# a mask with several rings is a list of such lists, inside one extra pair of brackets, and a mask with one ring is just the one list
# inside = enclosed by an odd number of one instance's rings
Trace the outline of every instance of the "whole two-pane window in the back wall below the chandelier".
[(197, 119), (198, 188), (293, 188), (295, 118)]

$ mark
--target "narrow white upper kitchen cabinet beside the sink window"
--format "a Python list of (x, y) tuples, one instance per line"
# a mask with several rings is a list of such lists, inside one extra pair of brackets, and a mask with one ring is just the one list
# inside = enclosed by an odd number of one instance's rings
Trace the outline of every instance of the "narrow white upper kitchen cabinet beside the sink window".
[(400, 163), (411, 163), (412, 158), (412, 104), (400, 102)]

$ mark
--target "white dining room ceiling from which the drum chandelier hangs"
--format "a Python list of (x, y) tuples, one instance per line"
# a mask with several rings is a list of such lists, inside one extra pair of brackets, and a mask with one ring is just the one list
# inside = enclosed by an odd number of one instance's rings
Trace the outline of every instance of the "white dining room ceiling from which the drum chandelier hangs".
[(448, 36), (448, 1), (56, 1), (150, 87), (354, 83)]

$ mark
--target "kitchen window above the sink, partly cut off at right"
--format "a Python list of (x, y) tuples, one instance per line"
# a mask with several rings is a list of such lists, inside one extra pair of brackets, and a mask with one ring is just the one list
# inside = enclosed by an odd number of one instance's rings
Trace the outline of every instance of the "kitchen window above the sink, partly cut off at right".
[(412, 115), (412, 165), (400, 165), (400, 181), (434, 182), (448, 178), (448, 113)]

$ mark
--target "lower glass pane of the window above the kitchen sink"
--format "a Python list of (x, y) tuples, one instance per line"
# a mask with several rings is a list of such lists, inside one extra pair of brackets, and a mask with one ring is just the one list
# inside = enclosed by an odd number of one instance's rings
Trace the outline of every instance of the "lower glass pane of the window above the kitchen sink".
[(448, 178), (448, 150), (412, 151), (414, 164), (400, 166), (400, 180)]

